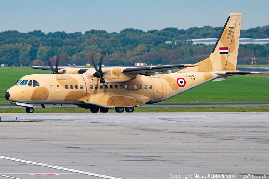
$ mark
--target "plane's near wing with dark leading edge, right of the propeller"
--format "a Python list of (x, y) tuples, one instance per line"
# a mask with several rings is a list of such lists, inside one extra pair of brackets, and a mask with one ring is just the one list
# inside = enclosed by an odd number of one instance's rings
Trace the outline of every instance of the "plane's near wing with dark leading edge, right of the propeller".
[(152, 66), (152, 67), (134, 67), (126, 68), (122, 72), (132, 73), (132, 74), (142, 74), (142, 75), (158, 75), (158, 72), (171, 73), (173, 69), (183, 69), (187, 67), (195, 67), (197, 65), (162, 65), (162, 66)]

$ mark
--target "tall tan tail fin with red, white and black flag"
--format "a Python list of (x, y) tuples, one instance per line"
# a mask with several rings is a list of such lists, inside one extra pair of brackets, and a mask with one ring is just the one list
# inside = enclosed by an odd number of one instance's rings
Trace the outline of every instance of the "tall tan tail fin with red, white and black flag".
[(179, 72), (236, 70), (242, 13), (231, 13), (209, 58)]

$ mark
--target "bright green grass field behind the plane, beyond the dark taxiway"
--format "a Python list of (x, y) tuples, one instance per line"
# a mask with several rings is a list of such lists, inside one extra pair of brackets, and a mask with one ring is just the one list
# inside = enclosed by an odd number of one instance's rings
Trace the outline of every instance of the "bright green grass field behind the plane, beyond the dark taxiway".
[[(20, 78), (51, 71), (30, 67), (0, 67), (0, 104), (9, 104), (5, 92)], [(162, 103), (259, 103), (269, 102), (269, 74), (237, 75), (224, 81), (209, 81)]]

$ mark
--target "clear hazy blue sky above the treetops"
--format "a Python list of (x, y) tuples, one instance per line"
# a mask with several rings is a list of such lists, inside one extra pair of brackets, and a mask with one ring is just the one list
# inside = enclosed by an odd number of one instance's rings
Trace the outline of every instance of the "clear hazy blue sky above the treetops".
[(233, 12), (243, 13), (241, 29), (248, 29), (269, 25), (268, 7), (268, 0), (0, 0), (0, 32), (85, 33), (97, 29), (119, 33), (125, 28), (218, 27)]

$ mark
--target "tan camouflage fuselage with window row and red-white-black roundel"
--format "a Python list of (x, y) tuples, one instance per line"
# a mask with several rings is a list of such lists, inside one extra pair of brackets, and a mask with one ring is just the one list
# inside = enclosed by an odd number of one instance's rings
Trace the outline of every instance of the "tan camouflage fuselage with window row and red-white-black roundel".
[(100, 83), (87, 73), (36, 74), (22, 77), (21, 82), (7, 92), (9, 101), (27, 104), (135, 107), (165, 101), (217, 77), (213, 72), (171, 73), (137, 75), (125, 82)]

